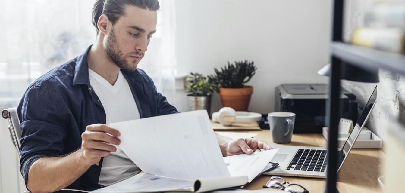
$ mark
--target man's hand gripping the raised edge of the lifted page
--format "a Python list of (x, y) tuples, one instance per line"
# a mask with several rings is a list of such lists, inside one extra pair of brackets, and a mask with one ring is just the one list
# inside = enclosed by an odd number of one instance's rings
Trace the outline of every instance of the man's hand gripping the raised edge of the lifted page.
[(121, 141), (117, 138), (119, 131), (105, 124), (93, 124), (86, 127), (81, 134), (82, 157), (85, 164), (91, 166), (100, 162), (101, 157), (110, 155), (111, 151), (117, 148), (111, 144), (119, 145)]

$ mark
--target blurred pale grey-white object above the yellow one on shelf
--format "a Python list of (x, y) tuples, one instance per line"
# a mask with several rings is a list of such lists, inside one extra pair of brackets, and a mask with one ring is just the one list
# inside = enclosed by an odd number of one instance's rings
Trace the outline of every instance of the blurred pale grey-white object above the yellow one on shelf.
[(364, 14), (368, 27), (396, 27), (405, 29), (405, 3), (379, 3)]

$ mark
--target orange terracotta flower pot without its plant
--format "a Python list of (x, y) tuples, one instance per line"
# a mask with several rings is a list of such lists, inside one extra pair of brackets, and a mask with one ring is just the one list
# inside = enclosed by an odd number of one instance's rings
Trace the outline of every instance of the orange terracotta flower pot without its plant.
[(220, 88), (222, 106), (232, 107), (235, 111), (247, 111), (252, 93), (252, 86), (245, 86), (245, 88)]

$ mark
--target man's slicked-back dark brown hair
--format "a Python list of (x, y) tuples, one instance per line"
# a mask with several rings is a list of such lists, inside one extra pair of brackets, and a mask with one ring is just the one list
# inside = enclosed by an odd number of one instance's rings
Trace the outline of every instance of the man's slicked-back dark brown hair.
[(107, 15), (108, 19), (115, 24), (120, 16), (124, 15), (126, 5), (133, 5), (139, 8), (157, 11), (160, 9), (158, 0), (96, 0), (92, 9), (92, 22), (96, 31), (100, 31), (97, 27), (98, 18), (100, 15)]

